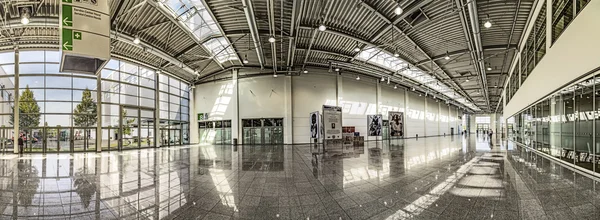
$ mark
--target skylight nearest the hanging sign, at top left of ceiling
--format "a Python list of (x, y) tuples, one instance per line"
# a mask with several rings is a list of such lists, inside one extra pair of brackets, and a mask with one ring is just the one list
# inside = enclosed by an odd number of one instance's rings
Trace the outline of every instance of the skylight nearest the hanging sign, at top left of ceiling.
[(201, 0), (166, 0), (164, 5), (199, 41), (218, 36), (202, 44), (220, 63), (238, 60), (235, 51), (223, 37), (208, 8)]

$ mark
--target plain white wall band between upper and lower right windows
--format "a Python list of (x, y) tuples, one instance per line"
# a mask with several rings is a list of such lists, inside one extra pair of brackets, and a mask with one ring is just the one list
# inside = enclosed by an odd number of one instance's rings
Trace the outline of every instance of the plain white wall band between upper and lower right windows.
[(506, 104), (504, 118), (600, 66), (599, 12), (600, 1), (590, 1), (577, 15)]

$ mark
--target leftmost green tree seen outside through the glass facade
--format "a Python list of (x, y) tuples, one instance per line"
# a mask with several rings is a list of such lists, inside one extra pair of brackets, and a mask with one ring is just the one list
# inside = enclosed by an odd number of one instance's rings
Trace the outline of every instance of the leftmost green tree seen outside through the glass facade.
[[(29, 137), (29, 132), (31, 128), (37, 127), (40, 124), (40, 118), (40, 106), (37, 104), (33, 92), (27, 86), (25, 91), (19, 96), (19, 128), (25, 132), (25, 148), (27, 148), (27, 143), (33, 141), (33, 138)], [(14, 121), (14, 115), (10, 115), (9, 123), (14, 126)], [(18, 136), (15, 135), (15, 138), (18, 138)], [(14, 141), (17, 143), (16, 139)]]

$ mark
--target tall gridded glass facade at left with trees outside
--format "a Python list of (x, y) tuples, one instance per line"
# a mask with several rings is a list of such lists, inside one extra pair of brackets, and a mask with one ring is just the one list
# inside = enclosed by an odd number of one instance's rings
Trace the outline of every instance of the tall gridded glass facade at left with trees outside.
[[(102, 150), (116, 150), (119, 141), (122, 148), (156, 146), (157, 98), (168, 103), (161, 105), (167, 112), (166, 127), (177, 129), (181, 135), (177, 139), (184, 140), (173, 144), (189, 142), (185, 141), (189, 139), (186, 83), (113, 59), (101, 71), (98, 88), (95, 75), (60, 72), (60, 57), (58, 51), (19, 52), (19, 135), (24, 137), (25, 152), (96, 151), (97, 137), (102, 140)], [(157, 78), (161, 97), (156, 97)], [(0, 53), (0, 150), (5, 151), (13, 148), (15, 84), (15, 54)], [(102, 94), (100, 102), (97, 92)], [(101, 134), (96, 131), (99, 120)]]

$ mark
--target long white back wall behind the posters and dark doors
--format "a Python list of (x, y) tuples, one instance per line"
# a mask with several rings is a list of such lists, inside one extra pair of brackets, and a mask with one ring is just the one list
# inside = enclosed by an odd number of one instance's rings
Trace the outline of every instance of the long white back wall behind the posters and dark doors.
[[(426, 121), (425, 96), (401, 88), (393, 89), (393, 85), (386, 83), (380, 84), (378, 95), (377, 79), (365, 77), (357, 81), (353, 77), (311, 70), (310, 74), (301, 76), (258, 76), (239, 79), (237, 83), (236, 80), (225, 80), (196, 85), (191, 116), (209, 113), (210, 120), (232, 120), (234, 129), (238, 109), (239, 119), (281, 117), (284, 118), (286, 144), (308, 143), (309, 113), (321, 111), (323, 105), (337, 105), (339, 100), (344, 112), (343, 125), (355, 126), (361, 135), (367, 133), (367, 115), (375, 114), (378, 109), (384, 119), (387, 119), (387, 111), (405, 112), (406, 137), (414, 138), (416, 134), (424, 137), (425, 124), (429, 126), (427, 136), (443, 135), (442, 130), (448, 129), (448, 123), (440, 120), (439, 114), (444, 111), (439, 110), (438, 102), (430, 99), (427, 110), (434, 119)], [(441, 107), (447, 108), (445, 104)], [(458, 119), (455, 121), (460, 123)], [(235, 132), (233, 137), (236, 137)], [(242, 141), (241, 134), (238, 140)]]

